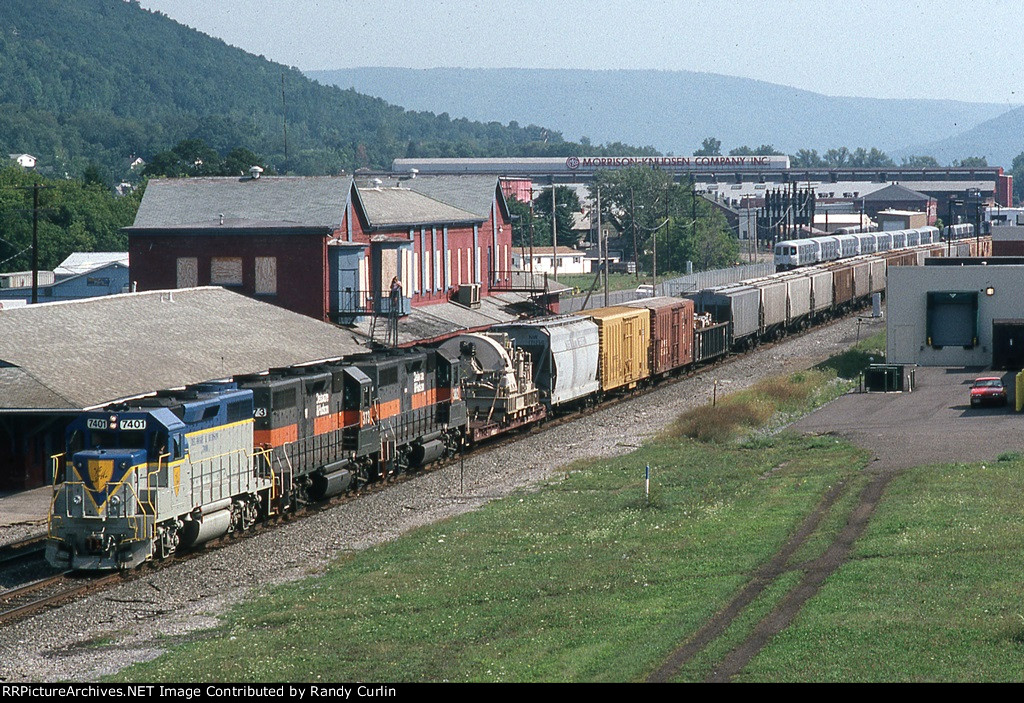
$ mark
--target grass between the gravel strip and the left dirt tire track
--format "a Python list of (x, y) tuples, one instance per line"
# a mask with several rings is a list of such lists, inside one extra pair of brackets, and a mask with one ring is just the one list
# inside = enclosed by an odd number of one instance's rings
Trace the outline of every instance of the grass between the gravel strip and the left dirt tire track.
[[(665, 440), (274, 589), (125, 679), (629, 680), (858, 471), (833, 440)], [(643, 500), (643, 470), (653, 471)]]

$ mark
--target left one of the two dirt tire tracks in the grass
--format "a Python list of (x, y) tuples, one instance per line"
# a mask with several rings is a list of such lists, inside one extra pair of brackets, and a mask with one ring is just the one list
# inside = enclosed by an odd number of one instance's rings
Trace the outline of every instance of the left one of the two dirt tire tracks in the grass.
[[(814, 511), (804, 519), (804, 522), (790, 537), (782, 548), (772, 557), (771, 561), (754, 573), (750, 582), (732, 599), (729, 605), (716, 613), (690, 640), (673, 652), (665, 663), (647, 677), (647, 683), (662, 684), (670, 680), (698, 652), (718, 639), (765, 588), (771, 585), (779, 576), (791, 571), (788, 564), (793, 555), (818, 529), (821, 520), (827, 515), (836, 501), (846, 492), (846, 481), (840, 481), (833, 486), (825, 493), (824, 497), (821, 498)], [(743, 646), (745, 645), (746, 642), (743, 643)], [(745, 662), (743, 665), (745, 665)]]

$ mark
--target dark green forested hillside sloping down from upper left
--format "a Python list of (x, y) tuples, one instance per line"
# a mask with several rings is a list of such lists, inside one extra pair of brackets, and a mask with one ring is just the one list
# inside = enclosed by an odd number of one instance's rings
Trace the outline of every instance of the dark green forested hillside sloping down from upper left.
[(247, 148), (298, 174), (403, 156), (566, 150), (542, 127), (452, 120), (319, 85), (123, 0), (0, 2), (0, 152), (32, 153), (42, 173), (61, 177), (94, 164), (114, 182), (130, 157), (150, 160), (183, 139), (221, 155)]

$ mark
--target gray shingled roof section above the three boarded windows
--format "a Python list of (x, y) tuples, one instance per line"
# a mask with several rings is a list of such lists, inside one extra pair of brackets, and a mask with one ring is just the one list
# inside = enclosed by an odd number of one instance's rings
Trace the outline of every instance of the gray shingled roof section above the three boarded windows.
[(337, 228), (351, 182), (348, 176), (154, 179), (128, 229)]

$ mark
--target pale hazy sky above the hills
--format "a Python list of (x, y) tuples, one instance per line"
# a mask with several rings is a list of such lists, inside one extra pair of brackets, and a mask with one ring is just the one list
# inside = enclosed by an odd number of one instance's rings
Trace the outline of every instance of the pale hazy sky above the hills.
[(141, 0), (302, 70), (664, 69), (1024, 102), (1024, 0)]

